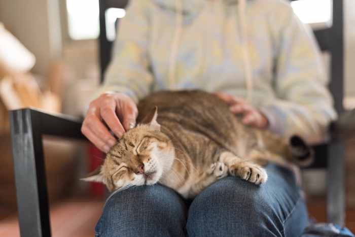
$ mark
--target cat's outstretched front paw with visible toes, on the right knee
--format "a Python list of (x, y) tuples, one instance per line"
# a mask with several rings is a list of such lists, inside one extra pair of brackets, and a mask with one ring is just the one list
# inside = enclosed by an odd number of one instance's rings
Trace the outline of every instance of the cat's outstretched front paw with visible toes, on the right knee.
[(232, 175), (255, 184), (262, 184), (267, 180), (265, 169), (258, 164), (250, 162), (246, 162), (243, 165), (232, 165), (229, 171)]

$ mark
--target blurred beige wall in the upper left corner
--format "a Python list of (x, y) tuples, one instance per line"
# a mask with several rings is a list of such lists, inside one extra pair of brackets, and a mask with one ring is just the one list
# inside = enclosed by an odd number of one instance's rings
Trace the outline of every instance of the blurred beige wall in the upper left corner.
[(46, 75), (62, 54), (58, 0), (0, 0), (0, 21), (35, 55), (32, 71)]

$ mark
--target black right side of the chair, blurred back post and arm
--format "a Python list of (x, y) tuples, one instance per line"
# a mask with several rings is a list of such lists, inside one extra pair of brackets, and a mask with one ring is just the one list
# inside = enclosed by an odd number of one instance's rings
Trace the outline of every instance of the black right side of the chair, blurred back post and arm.
[[(298, 1), (298, 0), (292, 0)], [(341, 116), (330, 124), (330, 140), (326, 144), (314, 146), (315, 161), (309, 168), (327, 168), (327, 221), (343, 225), (345, 219), (345, 181), (344, 181), (344, 132), (350, 131), (350, 112), (343, 114), (343, 1), (331, 1), (332, 25), (315, 30), (314, 34), (323, 52), (330, 55), (329, 89), (334, 98), (334, 107)], [(352, 122), (352, 123), (355, 123)], [(345, 126), (345, 127), (344, 127)]]

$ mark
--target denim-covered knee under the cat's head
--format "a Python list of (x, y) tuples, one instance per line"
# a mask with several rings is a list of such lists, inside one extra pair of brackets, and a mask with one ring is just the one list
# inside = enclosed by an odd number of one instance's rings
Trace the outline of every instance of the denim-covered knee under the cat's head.
[(159, 236), (183, 231), (185, 223), (186, 207), (174, 191), (138, 186), (110, 196), (95, 231), (99, 236)]

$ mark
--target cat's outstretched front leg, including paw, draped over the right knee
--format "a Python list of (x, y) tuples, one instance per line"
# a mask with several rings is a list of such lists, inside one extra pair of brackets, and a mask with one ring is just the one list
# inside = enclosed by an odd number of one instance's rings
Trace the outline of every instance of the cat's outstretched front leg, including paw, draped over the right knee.
[(240, 158), (231, 152), (223, 152), (219, 160), (228, 166), (229, 173), (233, 176), (255, 184), (262, 184), (267, 180), (265, 169), (251, 160)]

